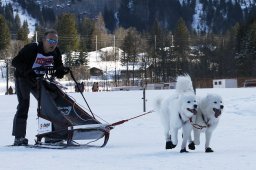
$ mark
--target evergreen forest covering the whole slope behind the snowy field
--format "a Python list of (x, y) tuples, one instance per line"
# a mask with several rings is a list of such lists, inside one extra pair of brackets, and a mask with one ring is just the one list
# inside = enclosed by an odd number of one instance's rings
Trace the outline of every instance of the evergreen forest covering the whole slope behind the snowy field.
[[(208, 11), (207, 29), (196, 30), (192, 28), (195, 0), (184, 4), (134, 1), (132, 7), (129, 0), (120, 0), (118, 22), (116, 11), (107, 7), (89, 17), (71, 12), (57, 14), (32, 0), (16, 1), (37, 19), (37, 37), (28, 38), (28, 23), (21, 23), (12, 5), (0, 4), (0, 59), (14, 57), (25, 44), (40, 39), (45, 29), (54, 28), (59, 34), (59, 47), (67, 55), (65, 64), (75, 68), (77, 74), (84, 73), (81, 79), (88, 74), (87, 53), (113, 45), (123, 50), (123, 65), (142, 63), (141, 76), (148, 82), (170, 82), (183, 73), (198, 79), (256, 76), (255, 7), (242, 10), (238, 3), (201, 0)], [(223, 17), (224, 11), (229, 19)], [(74, 57), (73, 51), (80, 52), (79, 56)], [(109, 56), (108, 60), (115, 57)]]

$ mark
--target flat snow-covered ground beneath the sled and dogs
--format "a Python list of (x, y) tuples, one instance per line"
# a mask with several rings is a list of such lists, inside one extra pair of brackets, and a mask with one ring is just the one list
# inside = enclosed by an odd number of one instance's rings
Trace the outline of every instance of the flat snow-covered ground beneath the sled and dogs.
[[(159, 96), (173, 90), (146, 91), (147, 110)], [(213, 134), (214, 153), (205, 153), (204, 144), (190, 153), (164, 149), (162, 126), (156, 113), (151, 113), (116, 126), (105, 148), (75, 150), (32, 149), (7, 147), (13, 143), (12, 120), (17, 99), (15, 95), (0, 95), (0, 169), (1, 170), (255, 170), (256, 164), (256, 88), (197, 89), (197, 94), (222, 95), (224, 113)], [(78, 93), (70, 93), (85, 106)], [(84, 93), (91, 109), (109, 123), (142, 113), (142, 91)], [(37, 133), (36, 101), (32, 97), (27, 138), (33, 144)], [(204, 138), (201, 138), (204, 143)]]

